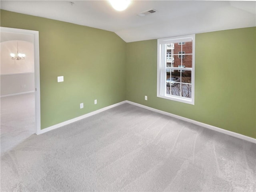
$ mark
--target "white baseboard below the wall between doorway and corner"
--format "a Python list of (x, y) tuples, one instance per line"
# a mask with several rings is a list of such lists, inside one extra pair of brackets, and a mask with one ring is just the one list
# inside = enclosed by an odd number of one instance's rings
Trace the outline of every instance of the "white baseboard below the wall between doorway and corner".
[(59, 124), (50, 126), (50, 127), (48, 127), (48, 128), (44, 128), (44, 129), (42, 129), (42, 130), (39, 130), (37, 134), (39, 135), (39, 134), (42, 134), (42, 133), (45, 133), (45, 132), (54, 130), (54, 129), (56, 129), (56, 128), (60, 128), (60, 127), (62, 127), (62, 126), (65, 126), (65, 125), (68, 125), (68, 124), (70, 124), (70, 123), (79, 121), (79, 120), (84, 119), (84, 118), (86, 118), (86, 117), (90, 117), (90, 116), (92, 116), (92, 115), (95, 115), (95, 114), (98, 114), (98, 113), (100, 113), (100, 112), (106, 111), (106, 110), (108, 110), (108, 109), (110, 109), (110, 108), (113, 108), (113, 107), (116, 107), (116, 106), (118, 106), (118, 105), (122, 105), (122, 104), (124, 104), (124, 103), (126, 103), (126, 101), (122, 101), (122, 102), (119, 102), (119, 103), (116, 103), (116, 104), (113, 104), (113, 105), (110, 105), (110, 106), (107, 106), (107, 107), (98, 109), (98, 110), (96, 110), (96, 111), (93, 111), (93, 112), (84, 114), (84, 115), (82, 115), (82, 116), (79, 116), (79, 117), (76, 117), (76, 118), (73, 118), (73, 119), (70, 119), (70, 120), (67, 120), (67, 121), (64, 121), (64, 122), (62, 122), (62, 123), (59, 123)]

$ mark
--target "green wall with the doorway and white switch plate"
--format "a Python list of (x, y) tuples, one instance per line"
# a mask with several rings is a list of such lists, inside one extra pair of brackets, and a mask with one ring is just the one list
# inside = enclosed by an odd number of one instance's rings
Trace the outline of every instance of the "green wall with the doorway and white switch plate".
[(39, 31), (41, 129), (126, 99), (126, 43), (113, 32), (5, 10), (1, 26)]

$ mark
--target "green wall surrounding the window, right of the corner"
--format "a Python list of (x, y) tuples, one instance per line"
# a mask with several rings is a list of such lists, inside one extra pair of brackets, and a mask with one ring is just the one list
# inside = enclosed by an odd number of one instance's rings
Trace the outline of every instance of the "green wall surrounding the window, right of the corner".
[(157, 40), (128, 43), (126, 99), (256, 138), (255, 53), (255, 27), (196, 34), (190, 105), (156, 97)]

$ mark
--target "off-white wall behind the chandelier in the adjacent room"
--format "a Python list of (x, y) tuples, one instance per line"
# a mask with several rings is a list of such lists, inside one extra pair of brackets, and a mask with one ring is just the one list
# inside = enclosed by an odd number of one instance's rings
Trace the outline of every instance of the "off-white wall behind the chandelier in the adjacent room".
[[(1, 33), (1, 38), (4, 35)], [(28, 40), (28, 38), (26, 38)], [(12, 60), (10, 53), (26, 54), (24, 60)], [(24, 40), (1, 42), (0, 67), (1, 96), (9, 96), (34, 91), (34, 44)]]

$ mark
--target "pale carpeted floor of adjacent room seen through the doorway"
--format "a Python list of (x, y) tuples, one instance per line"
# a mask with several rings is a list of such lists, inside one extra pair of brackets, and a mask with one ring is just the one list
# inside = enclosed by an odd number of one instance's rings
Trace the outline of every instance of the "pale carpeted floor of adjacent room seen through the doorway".
[(1, 98), (1, 155), (35, 133), (34, 93)]

